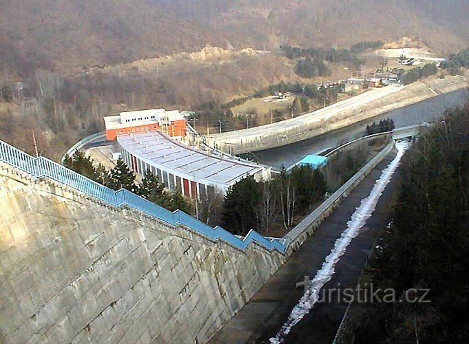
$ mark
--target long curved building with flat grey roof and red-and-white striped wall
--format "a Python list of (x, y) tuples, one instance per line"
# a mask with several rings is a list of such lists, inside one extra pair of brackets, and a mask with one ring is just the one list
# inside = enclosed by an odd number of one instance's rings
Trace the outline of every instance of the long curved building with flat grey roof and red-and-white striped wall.
[(123, 160), (137, 173), (150, 169), (170, 191), (205, 199), (225, 194), (229, 186), (247, 176), (270, 177), (270, 169), (257, 164), (191, 149), (160, 131), (117, 136)]

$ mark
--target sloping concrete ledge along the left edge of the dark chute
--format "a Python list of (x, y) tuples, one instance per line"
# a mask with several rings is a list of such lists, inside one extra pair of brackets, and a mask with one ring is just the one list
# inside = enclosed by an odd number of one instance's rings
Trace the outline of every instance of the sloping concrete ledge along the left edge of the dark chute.
[(382, 151), (377, 153), (365, 166), (362, 167), (352, 178), (350, 178), (344, 185), (342, 185), (333, 195), (327, 200), (322, 202), (312, 213), (306, 216), (300, 224), (295, 226), (289, 233), (284, 236), (284, 239), (289, 243), (286, 250), (286, 255), (290, 256), (297, 250), (314, 230), (324, 222), (337, 206), (347, 197), (355, 187), (366, 178), (366, 175), (381, 162), (390, 151), (393, 151), (395, 145), (394, 141), (390, 142)]

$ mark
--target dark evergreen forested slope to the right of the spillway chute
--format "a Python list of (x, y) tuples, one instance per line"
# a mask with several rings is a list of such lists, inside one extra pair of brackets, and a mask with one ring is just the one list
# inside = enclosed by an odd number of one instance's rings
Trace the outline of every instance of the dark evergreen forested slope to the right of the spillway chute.
[(359, 305), (355, 343), (468, 343), (469, 103), (447, 111), (408, 151), (402, 175), (367, 275), (374, 290), (394, 288), (399, 298), (429, 289), (430, 303)]

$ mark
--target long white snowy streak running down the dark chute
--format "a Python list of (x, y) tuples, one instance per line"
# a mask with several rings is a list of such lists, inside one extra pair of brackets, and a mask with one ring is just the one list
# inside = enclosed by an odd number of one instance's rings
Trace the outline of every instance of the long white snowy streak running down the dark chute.
[(324, 284), (330, 281), (334, 275), (335, 264), (337, 264), (337, 261), (339, 261), (340, 257), (344, 254), (348, 244), (350, 244), (352, 239), (358, 235), (360, 228), (364, 226), (366, 220), (370, 218), (373, 211), (375, 211), (379, 197), (381, 197), (386, 185), (393, 177), (397, 166), (399, 166), (402, 155), (404, 155), (408, 146), (409, 144), (407, 142), (396, 143), (396, 157), (392, 162), (390, 162), (388, 167), (382, 171), (382, 174), (373, 186), (370, 195), (362, 200), (360, 206), (355, 210), (351, 220), (347, 222), (346, 230), (344, 230), (340, 238), (335, 241), (334, 248), (326, 257), (322, 264), (322, 268), (317, 271), (314, 279), (309, 283), (307, 292), (303, 295), (300, 301), (298, 301), (298, 304), (295, 305), (289, 315), (289, 319), (284, 323), (277, 335), (270, 338), (271, 343), (283, 343), (284, 337), (289, 334), (292, 327), (295, 326), (306, 314), (308, 314), (311, 308), (313, 308), (313, 305), (319, 299), (321, 288)]

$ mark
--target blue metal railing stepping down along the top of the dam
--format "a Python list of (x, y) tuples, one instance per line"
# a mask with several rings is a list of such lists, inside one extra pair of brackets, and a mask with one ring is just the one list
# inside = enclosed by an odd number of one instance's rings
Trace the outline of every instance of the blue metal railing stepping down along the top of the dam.
[(241, 250), (246, 250), (253, 241), (256, 241), (256, 243), (264, 246), (269, 251), (277, 250), (284, 253), (286, 250), (286, 245), (278, 239), (266, 239), (255, 230), (251, 230), (244, 239), (240, 239), (220, 226), (212, 228), (180, 210), (171, 213), (171, 211), (124, 189), (114, 191), (52, 160), (43, 157), (34, 158), (1, 140), (0, 161), (6, 162), (30, 175), (34, 175), (36, 178), (47, 177), (56, 180), (113, 206), (131, 206), (168, 224), (182, 224), (206, 237), (215, 240), (221, 239)]

